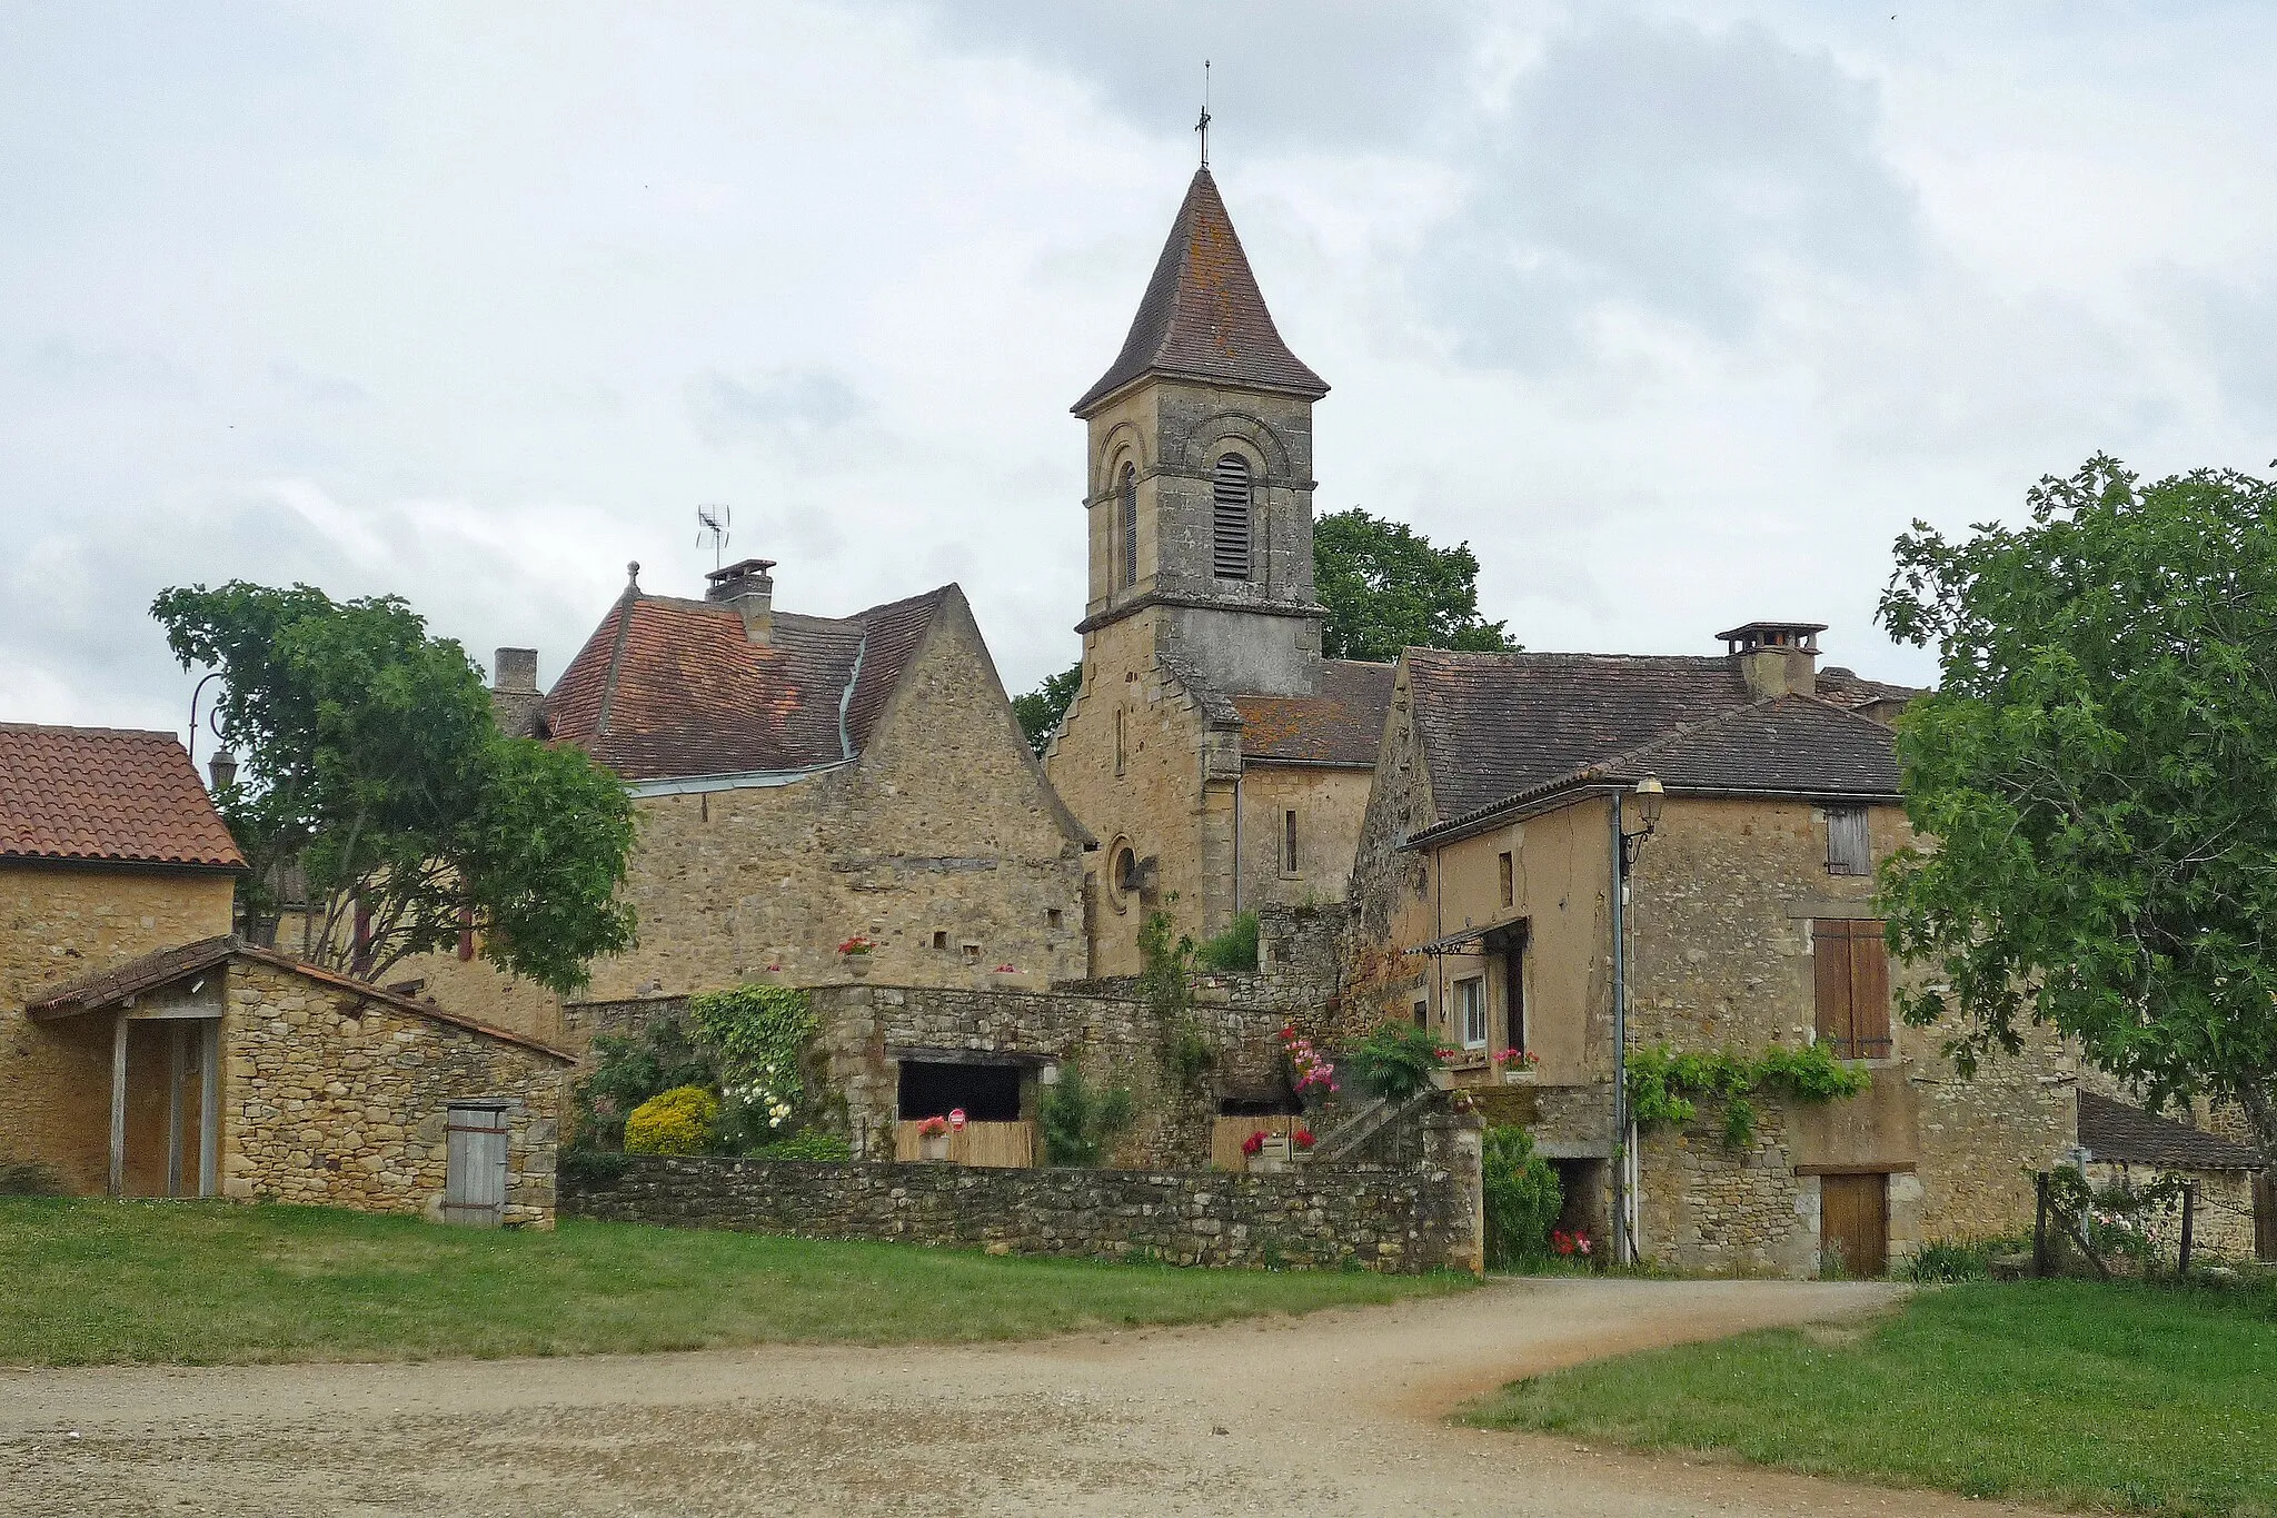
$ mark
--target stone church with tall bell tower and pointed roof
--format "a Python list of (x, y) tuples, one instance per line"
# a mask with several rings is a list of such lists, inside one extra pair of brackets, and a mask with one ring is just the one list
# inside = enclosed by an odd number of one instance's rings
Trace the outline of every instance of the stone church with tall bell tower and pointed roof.
[(1145, 913), (1220, 931), (1350, 876), (1389, 667), (1321, 658), (1312, 403), (1209, 168), (1193, 175), (1086, 423), (1084, 678), (1050, 751), (1088, 826), (1095, 974)]

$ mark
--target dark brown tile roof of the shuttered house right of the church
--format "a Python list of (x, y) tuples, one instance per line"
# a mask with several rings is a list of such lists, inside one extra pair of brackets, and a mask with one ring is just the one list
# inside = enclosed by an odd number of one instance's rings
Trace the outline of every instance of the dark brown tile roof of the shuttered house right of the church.
[(1897, 794), (1890, 728), (1847, 708), (1901, 685), (1844, 671), (1819, 699), (1758, 701), (1728, 655), (1409, 649), (1407, 669), (1439, 828), (1646, 772), (1694, 790)]

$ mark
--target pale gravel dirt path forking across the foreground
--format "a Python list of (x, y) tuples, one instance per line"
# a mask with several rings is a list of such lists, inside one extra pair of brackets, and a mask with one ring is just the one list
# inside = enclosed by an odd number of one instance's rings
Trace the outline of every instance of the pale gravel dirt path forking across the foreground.
[(1441, 1422), (1885, 1286), (1512, 1281), (1002, 1347), (0, 1372), (5, 1513), (1983, 1513)]

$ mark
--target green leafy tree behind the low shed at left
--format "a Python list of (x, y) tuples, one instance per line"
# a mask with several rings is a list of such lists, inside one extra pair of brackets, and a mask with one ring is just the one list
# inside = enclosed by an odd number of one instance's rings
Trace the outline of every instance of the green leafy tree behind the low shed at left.
[(485, 958), (562, 992), (631, 947), (624, 785), (578, 749), (501, 735), (483, 671), (410, 605), (232, 580), (150, 610), (184, 669), (223, 678), (214, 721), (241, 758), (219, 803), (253, 865), (255, 935), (273, 938), (296, 860), (310, 931), (291, 947), (364, 979), (467, 926)]

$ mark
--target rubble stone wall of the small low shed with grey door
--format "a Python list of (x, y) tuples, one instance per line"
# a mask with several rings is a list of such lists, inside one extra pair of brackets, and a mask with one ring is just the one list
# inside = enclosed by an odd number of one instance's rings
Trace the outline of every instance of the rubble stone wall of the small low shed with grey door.
[(232, 960), (221, 1190), (439, 1218), (446, 1111), (505, 1097), (508, 1227), (553, 1224), (567, 1063), (294, 970)]

